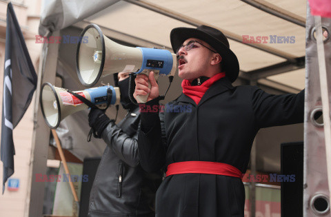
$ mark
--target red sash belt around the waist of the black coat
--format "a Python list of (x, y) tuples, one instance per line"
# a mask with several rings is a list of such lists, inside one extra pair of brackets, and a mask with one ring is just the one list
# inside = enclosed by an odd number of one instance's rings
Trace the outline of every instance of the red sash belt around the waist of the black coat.
[(175, 174), (215, 174), (241, 178), (241, 171), (232, 165), (209, 161), (184, 161), (168, 165), (167, 176)]

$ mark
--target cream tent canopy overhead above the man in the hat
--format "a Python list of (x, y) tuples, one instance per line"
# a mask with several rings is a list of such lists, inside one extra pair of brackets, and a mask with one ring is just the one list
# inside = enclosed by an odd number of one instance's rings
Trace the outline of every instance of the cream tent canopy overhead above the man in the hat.
[[(230, 48), (237, 54), (243, 78), (268, 79), (293, 87), (291, 92), (304, 87), (304, 64), (302, 59), (297, 59), (305, 56), (306, 1), (303, 0), (246, 1), (260, 8), (269, 8), (279, 17), (239, 0), (46, 2), (41, 17), (40, 34), (71, 24), (83, 28), (88, 23), (96, 23), (103, 29), (121, 34), (122, 41), (135, 42), (138, 45), (144, 41), (147, 42), (146, 45), (161, 45), (171, 49), (169, 34), (172, 28), (211, 25), (222, 30), (230, 39)], [(291, 21), (280, 17), (290, 17)], [(81, 22), (78, 23), (79, 21)], [(123, 35), (126, 39), (123, 39)], [(267, 43), (245, 44), (241, 43), (243, 35), (268, 39)], [(270, 36), (292, 37), (294, 43), (272, 43)], [(279, 63), (291, 64), (276, 65)], [(261, 73), (264, 72), (261, 69), (272, 65), (276, 66), (271, 75)], [(255, 70), (260, 70), (258, 74), (261, 76), (254, 74)], [(291, 72), (292, 70), (296, 71)], [(274, 74), (279, 75), (272, 76)], [(261, 80), (261, 83), (263, 82), (265, 81)], [(272, 82), (268, 85), (271, 84)], [(281, 85), (277, 87), (280, 88)]]

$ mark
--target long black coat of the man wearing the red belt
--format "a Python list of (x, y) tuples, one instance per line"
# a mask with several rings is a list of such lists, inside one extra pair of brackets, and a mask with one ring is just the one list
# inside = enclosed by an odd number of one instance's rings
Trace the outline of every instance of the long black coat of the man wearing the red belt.
[[(152, 100), (146, 105), (158, 105)], [(192, 106), (186, 112), (167, 107)], [(304, 90), (273, 95), (256, 86), (233, 87), (225, 77), (199, 105), (181, 94), (163, 113), (141, 113), (140, 163), (148, 172), (181, 161), (227, 163), (245, 173), (252, 142), (262, 127), (303, 122)], [(157, 191), (157, 217), (243, 216), (245, 191), (240, 178), (214, 174), (167, 176)]]

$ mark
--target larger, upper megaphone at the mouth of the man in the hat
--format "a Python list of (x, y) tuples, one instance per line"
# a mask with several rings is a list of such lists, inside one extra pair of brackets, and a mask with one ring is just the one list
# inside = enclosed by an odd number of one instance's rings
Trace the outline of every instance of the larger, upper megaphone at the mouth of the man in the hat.
[[(76, 69), (79, 81), (86, 86), (95, 85), (101, 76), (117, 72), (154, 72), (159, 75), (174, 76), (177, 70), (177, 56), (168, 50), (154, 48), (132, 48), (120, 45), (106, 37), (98, 25), (90, 24), (81, 33), (77, 45)], [(150, 84), (149, 84), (150, 85)], [(140, 96), (145, 103), (148, 96)]]

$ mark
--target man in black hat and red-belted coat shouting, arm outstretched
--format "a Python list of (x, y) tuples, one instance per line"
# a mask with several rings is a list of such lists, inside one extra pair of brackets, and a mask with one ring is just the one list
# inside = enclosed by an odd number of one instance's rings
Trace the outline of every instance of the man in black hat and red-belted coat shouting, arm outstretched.
[[(262, 127), (303, 122), (304, 92), (273, 95), (256, 86), (233, 87), (237, 56), (214, 28), (175, 28), (170, 40), (179, 56), (183, 94), (165, 110), (188, 105), (192, 110), (141, 113), (141, 166), (167, 170), (157, 191), (157, 216), (243, 216), (241, 177), (254, 137)], [(149, 93), (143, 107), (159, 105), (153, 73), (135, 82), (135, 97)]]

